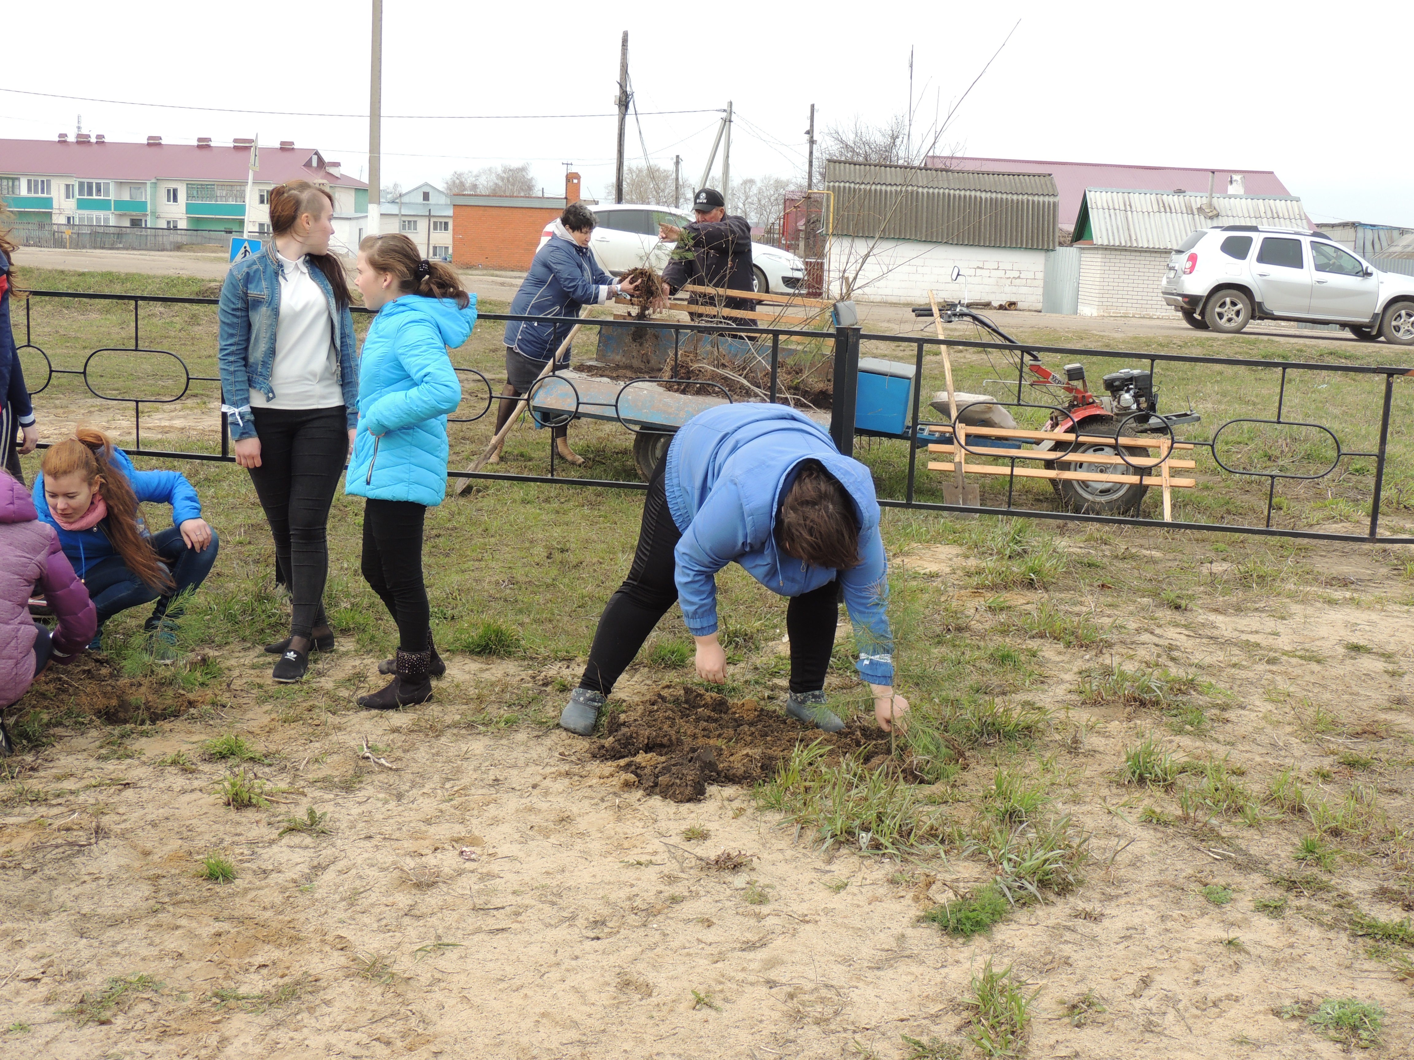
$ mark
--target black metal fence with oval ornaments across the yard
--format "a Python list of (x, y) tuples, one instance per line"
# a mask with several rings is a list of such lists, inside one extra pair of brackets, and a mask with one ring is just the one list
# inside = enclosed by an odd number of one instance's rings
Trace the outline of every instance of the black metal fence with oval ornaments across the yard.
[[(33, 308), (35, 300), (47, 298), (78, 298), (78, 300), (103, 300), (103, 301), (120, 301), (130, 302), (133, 307), (133, 332), (132, 345), (112, 345), (93, 349), (85, 359), (82, 369), (62, 369), (54, 367), (48, 353), (45, 353), (42, 336), (35, 334), (35, 321), (33, 319)], [(184, 304), (184, 305), (211, 305), (215, 307), (218, 300), (215, 298), (184, 298), (174, 295), (137, 295), (137, 294), (96, 294), (96, 293), (71, 293), (71, 291), (31, 291), (30, 297), (20, 302), (24, 307), (23, 312), (23, 326), (24, 326), (24, 342), (20, 349), (30, 359), (30, 367), (27, 369), (27, 383), (30, 384), (31, 394), (37, 399), (37, 411), (42, 414), (42, 396), (47, 391), (54, 376), (79, 376), (83, 379), (85, 386), (89, 393), (96, 399), (105, 401), (116, 401), (133, 406), (133, 423), (134, 423), (134, 437), (137, 441), (136, 448), (129, 449), (132, 455), (137, 457), (157, 457), (167, 459), (205, 459), (205, 461), (232, 461), (233, 457), (229, 451), (229, 434), (226, 430), (226, 417), (221, 414), (219, 421), (214, 417), (212, 430), (219, 432), (219, 454), (216, 452), (187, 452), (187, 451), (173, 451), (173, 449), (150, 449), (144, 448), (141, 444), (141, 414), (143, 406), (154, 404), (174, 404), (187, 399), (192, 391), (192, 384), (201, 384), (202, 387), (209, 387), (211, 399), (221, 397), (221, 380), (218, 376), (194, 376), (188, 369), (187, 363), (175, 353), (164, 349), (144, 348), (141, 341), (141, 307), (144, 304)], [(365, 314), (365, 310), (355, 308), (355, 312)], [(516, 317), (509, 314), (493, 314), (486, 312), (479, 315), (479, 321), (484, 322), (506, 322), (513, 319), (540, 319), (546, 318), (529, 318)], [(885, 507), (904, 507), (904, 509), (918, 509), (918, 510), (936, 510), (936, 512), (956, 512), (956, 513), (976, 513), (976, 514), (993, 514), (993, 516), (1017, 516), (1028, 519), (1062, 519), (1075, 522), (1089, 522), (1089, 523), (1110, 523), (1121, 526), (1147, 526), (1165, 530), (1208, 530), (1208, 531), (1226, 531), (1226, 533), (1244, 533), (1244, 534), (1263, 534), (1273, 537), (1291, 537), (1291, 538), (1315, 538), (1315, 540), (1332, 540), (1332, 541), (1380, 541), (1384, 544), (1414, 544), (1414, 536), (1380, 536), (1380, 507), (1383, 500), (1384, 483), (1389, 471), (1389, 441), (1391, 430), (1391, 407), (1394, 397), (1396, 379), (1400, 376), (1414, 376), (1414, 369), (1410, 367), (1383, 367), (1383, 366), (1359, 366), (1359, 365), (1332, 365), (1332, 363), (1295, 363), (1295, 362), (1273, 362), (1260, 359), (1244, 359), (1244, 358), (1212, 358), (1200, 355), (1188, 353), (1137, 353), (1137, 352), (1123, 352), (1113, 349), (1079, 349), (1073, 346), (1038, 346), (1038, 345), (1012, 345), (997, 341), (978, 341), (978, 339), (954, 339), (946, 338), (939, 339), (935, 336), (922, 335), (878, 335), (878, 334), (864, 334), (858, 326), (836, 326), (833, 331), (803, 331), (792, 328), (755, 328), (742, 326), (737, 324), (724, 325), (721, 322), (715, 324), (684, 324), (684, 322), (669, 322), (669, 321), (638, 321), (638, 319), (597, 319), (597, 318), (564, 318), (561, 322), (567, 325), (581, 324), (584, 326), (594, 328), (649, 328), (656, 331), (667, 331), (673, 335), (673, 363), (676, 365), (677, 351), (683, 342), (684, 336), (690, 335), (721, 335), (730, 326), (730, 334), (738, 338), (748, 339), (758, 356), (769, 363), (769, 386), (765, 389), (765, 397), (771, 401), (781, 400), (779, 387), (779, 367), (782, 358), (782, 339), (805, 339), (813, 342), (826, 342), (833, 348), (833, 401), (830, 407), (829, 430), (830, 437), (834, 440), (836, 445), (841, 452), (847, 455), (854, 454), (855, 445), (855, 403), (857, 403), (857, 380), (860, 370), (860, 349), (861, 343), (870, 342), (875, 346), (885, 346), (889, 351), (902, 351), (912, 348), (913, 360), (913, 386), (911, 389), (911, 408), (908, 414), (908, 425), (905, 432), (901, 434), (887, 434), (884, 437), (895, 438), (902, 441), (908, 447), (908, 466), (906, 466), (906, 485), (902, 497), (880, 497), (880, 505)], [(18, 324), (18, 322), (17, 322)], [(18, 331), (18, 326), (17, 326)], [(126, 335), (123, 338), (126, 342)], [(1025, 382), (1025, 367), (1024, 359), (1027, 353), (1053, 353), (1059, 355), (1068, 360), (1082, 359), (1082, 358), (1104, 358), (1104, 359), (1131, 359), (1135, 362), (1148, 362), (1148, 370), (1151, 375), (1157, 376), (1158, 367), (1161, 365), (1208, 365), (1223, 369), (1230, 367), (1246, 367), (1256, 369), (1260, 372), (1278, 373), (1277, 380), (1277, 401), (1275, 408), (1271, 410), (1270, 417), (1261, 417), (1257, 414), (1244, 416), (1222, 423), (1215, 430), (1212, 430), (1208, 437), (1184, 437), (1178, 441), (1188, 442), (1193, 445), (1195, 451), (1206, 449), (1212, 457), (1215, 465), (1229, 475), (1236, 475), (1240, 478), (1250, 478), (1254, 481), (1266, 481), (1267, 485), (1267, 503), (1266, 503), (1266, 519), (1263, 524), (1247, 524), (1241, 522), (1165, 522), (1159, 519), (1144, 519), (1138, 516), (1117, 516), (1117, 514), (1089, 514), (1066, 510), (1051, 510), (1051, 509), (1036, 509), (1024, 507), (1015, 503), (1015, 496), (1011, 485), (1007, 489), (1007, 503), (1005, 505), (949, 505), (937, 503), (930, 500), (921, 500), (918, 497), (918, 459), (919, 448), (925, 438), (923, 431), (932, 428), (933, 438), (939, 438), (942, 432), (950, 432), (953, 425), (949, 420), (925, 421), (921, 418), (922, 408), (922, 379), (923, 379), (923, 359), (930, 349), (936, 352), (937, 346), (947, 345), (952, 349), (980, 349), (980, 351), (1001, 351), (1008, 355), (1018, 358), (1018, 375), (1015, 379), (1015, 400), (1014, 401), (995, 401), (997, 404), (1014, 406), (1019, 408), (1034, 408), (1034, 410), (1051, 410), (1053, 406), (1036, 401), (1025, 400), (1028, 386)], [(153, 359), (151, 363), (158, 363), (157, 359), (163, 359), (160, 363), (175, 362), (180, 369), (177, 379), (181, 382), (181, 387), (175, 393), (167, 396), (153, 396), (153, 394), (134, 394), (134, 393), (103, 393), (95, 386), (90, 372), (95, 363), (102, 363), (103, 358), (109, 356), (140, 356)], [(34, 373), (34, 359), (42, 359), (42, 379), (38, 373)], [(170, 359), (165, 360), (165, 359)], [(461, 423), (468, 423), (472, 420), (479, 420), (489, 411), (495, 400), (495, 393), (491, 382), (486, 376), (475, 369), (458, 367), (464, 376), (479, 379), (479, 386), (486, 389), (485, 406), (477, 416), (462, 417)], [(1356, 379), (1369, 379), (1372, 383), (1381, 386), (1381, 393), (1372, 394), (1372, 397), (1380, 399), (1380, 421), (1379, 432), (1374, 448), (1366, 449), (1352, 449), (1346, 448), (1340, 441), (1340, 431), (1318, 423), (1291, 420), (1287, 416), (1287, 394), (1288, 394), (1288, 380), (1301, 376), (1302, 373), (1336, 373), (1340, 376), (1350, 376)], [(28, 377), (35, 375), (35, 377)], [(676, 372), (673, 373), (676, 375)], [(563, 379), (563, 376), (550, 376), (549, 379)], [(624, 383), (624, 387), (635, 386), (639, 383), (663, 383), (663, 382), (683, 382), (683, 383), (697, 383), (700, 380), (663, 380), (663, 379), (635, 379)], [(1011, 386), (1008, 383), (1008, 386)], [(573, 389), (573, 383), (570, 384)], [(479, 387), (478, 387), (479, 389)], [(728, 399), (730, 400), (730, 399)], [(479, 404), (479, 397), (477, 399)], [(584, 411), (583, 399), (578, 397), (575, 391), (573, 416), (578, 416)], [(605, 403), (597, 403), (604, 406)], [(636, 425), (625, 421), (619, 411), (618, 397), (611, 403), (614, 408), (614, 417), (626, 430), (642, 430), (643, 424), (639, 421)], [(608, 416), (600, 416), (598, 418), (611, 418)], [(1318, 471), (1318, 473), (1297, 473), (1290, 471), (1281, 471), (1275, 466), (1267, 469), (1253, 469), (1253, 468), (1236, 468), (1223, 462), (1223, 457), (1219, 452), (1219, 444), (1225, 431), (1237, 427), (1239, 424), (1257, 424), (1257, 425), (1275, 425), (1275, 427), (1292, 427), (1292, 428), (1308, 428), (1322, 432), (1333, 444), (1333, 459), (1329, 466)], [(672, 425), (663, 427), (665, 431), (673, 430)], [(1089, 430), (1086, 431), (1090, 432)], [(877, 432), (874, 432), (877, 434)], [(1120, 432), (1116, 431), (1116, 451), (1123, 452), (1123, 447), (1118, 444)], [(455, 479), (486, 479), (499, 482), (534, 482), (546, 485), (564, 485), (564, 486), (595, 486), (595, 488), (609, 488), (609, 489), (645, 489), (642, 482), (625, 482), (617, 479), (591, 479), (578, 478), (573, 475), (557, 473), (554, 464), (554, 447), (550, 447), (550, 468), (547, 475), (519, 475), (510, 472), (465, 472), (452, 468), (448, 473)], [(1350, 461), (1367, 459), (1373, 461), (1373, 479), (1370, 489), (1367, 490), (1369, 503), (1369, 524), (1365, 533), (1339, 533), (1331, 530), (1305, 530), (1298, 527), (1281, 527), (1273, 526), (1274, 514), (1274, 500), (1277, 483), (1280, 481), (1307, 481), (1316, 482), (1328, 479), (1336, 475), (1342, 464), (1349, 466)], [(1128, 462), (1128, 461), (1126, 461)], [(1012, 468), (1015, 466), (1015, 459), (1011, 461)], [(1137, 466), (1137, 465), (1131, 465)], [(1014, 483), (1014, 479), (1008, 479)]]

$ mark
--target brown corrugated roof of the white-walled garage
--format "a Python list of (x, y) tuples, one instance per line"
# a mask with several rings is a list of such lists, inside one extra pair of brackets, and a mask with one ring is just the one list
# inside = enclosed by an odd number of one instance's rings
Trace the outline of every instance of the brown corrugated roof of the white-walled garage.
[(865, 239), (1051, 250), (1059, 199), (1049, 174), (826, 164), (831, 232)]

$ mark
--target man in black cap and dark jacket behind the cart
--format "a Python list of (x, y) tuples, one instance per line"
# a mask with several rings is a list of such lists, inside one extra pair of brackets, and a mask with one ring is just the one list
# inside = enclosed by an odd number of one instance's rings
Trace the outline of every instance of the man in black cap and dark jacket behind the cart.
[[(727, 213), (727, 202), (721, 192), (703, 188), (693, 196), (693, 213), (697, 220), (686, 228), (659, 225), (658, 236), (676, 240), (667, 269), (663, 270), (663, 284), (669, 294), (687, 285), (724, 287), (731, 291), (751, 291), (751, 225), (745, 218)], [(749, 318), (732, 318), (730, 310), (752, 311), (752, 298), (724, 298), (721, 295), (693, 293), (690, 305), (710, 305), (713, 315), (734, 324), (751, 326)]]

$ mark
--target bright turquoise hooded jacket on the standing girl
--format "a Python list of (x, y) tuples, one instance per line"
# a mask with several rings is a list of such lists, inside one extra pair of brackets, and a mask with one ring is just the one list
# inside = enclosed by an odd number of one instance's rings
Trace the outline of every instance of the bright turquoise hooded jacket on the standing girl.
[(344, 489), (434, 507), (447, 495), (447, 414), (461, 382), (447, 356), (471, 336), (471, 305), (404, 294), (373, 318), (358, 377), (358, 435)]

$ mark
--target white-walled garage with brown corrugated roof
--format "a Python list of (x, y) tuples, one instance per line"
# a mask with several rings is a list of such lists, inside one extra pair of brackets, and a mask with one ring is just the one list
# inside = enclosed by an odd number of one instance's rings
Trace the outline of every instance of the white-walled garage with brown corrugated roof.
[(1049, 174), (826, 163), (831, 202), (830, 285), (863, 301), (969, 301), (1041, 310), (1046, 252), (1056, 245)]

